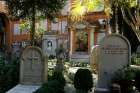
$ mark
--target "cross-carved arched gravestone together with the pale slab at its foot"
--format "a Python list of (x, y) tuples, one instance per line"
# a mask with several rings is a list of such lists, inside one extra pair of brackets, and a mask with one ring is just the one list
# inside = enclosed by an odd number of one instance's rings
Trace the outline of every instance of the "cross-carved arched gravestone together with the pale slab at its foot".
[(22, 53), (20, 84), (6, 93), (33, 93), (47, 81), (47, 60), (40, 48), (28, 46)]

